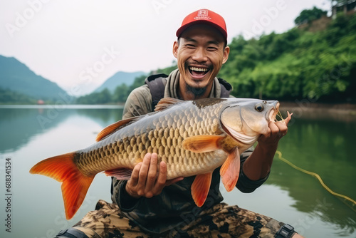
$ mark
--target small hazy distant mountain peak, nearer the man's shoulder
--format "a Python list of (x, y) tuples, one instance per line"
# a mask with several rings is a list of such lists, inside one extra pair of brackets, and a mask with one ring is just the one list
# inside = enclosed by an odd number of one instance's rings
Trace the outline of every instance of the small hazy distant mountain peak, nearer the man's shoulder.
[(100, 93), (105, 88), (108, 88), (108, 90), (113, 93), (117, 86), (120, 86), (123, 83), (125, 83), (127, 86), (131, 86), (132, 83), (135, 81), (135, 78), (145, 74), (146, 73), (142, 71), (132, 73), (119, 71), (110, 78), (108, 78), (108, 80), (105, 81), (99, 88), (95, 89), (94, 93)]

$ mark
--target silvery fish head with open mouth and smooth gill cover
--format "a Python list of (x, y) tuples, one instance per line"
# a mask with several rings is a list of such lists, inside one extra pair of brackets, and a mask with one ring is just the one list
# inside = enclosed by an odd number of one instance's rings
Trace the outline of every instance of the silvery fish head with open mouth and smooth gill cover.
[(277, 100), (229, 99), (229, 105), (221, 113), (221, 125), (234, 140), (252, 145), (266, 134), (268, 123), (276, 120)]

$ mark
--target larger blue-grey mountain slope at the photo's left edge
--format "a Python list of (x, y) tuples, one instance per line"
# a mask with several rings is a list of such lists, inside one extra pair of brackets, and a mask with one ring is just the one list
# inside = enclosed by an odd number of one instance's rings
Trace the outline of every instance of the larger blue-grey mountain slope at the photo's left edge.
[(28, 95), (36, 100), (54, 102), (62, 97), (68, 98), (66, 91), (56, 83), (36, 75), (13, 57), (0, 56), (0, 88)]

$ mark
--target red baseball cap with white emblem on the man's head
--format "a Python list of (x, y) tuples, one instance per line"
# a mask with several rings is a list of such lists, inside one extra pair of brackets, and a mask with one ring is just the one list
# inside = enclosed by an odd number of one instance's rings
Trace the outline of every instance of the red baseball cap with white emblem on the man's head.
[(226, 31), (226, 23), (224, 18), (219, 14), (216, 14), (214, 11), (210, 11), (208, 9), (200, 9), (186, 16), (182, 22), (182, 26), (179, 27), (176, 33), (177, 37), (179, 37), (183, 33), (183, 31), (187, 29), (189, 26), (192, 26), (194, 24), (199, 24), (199, 23), (214, 26), (222, 33), (226, 41), (227, 31)]

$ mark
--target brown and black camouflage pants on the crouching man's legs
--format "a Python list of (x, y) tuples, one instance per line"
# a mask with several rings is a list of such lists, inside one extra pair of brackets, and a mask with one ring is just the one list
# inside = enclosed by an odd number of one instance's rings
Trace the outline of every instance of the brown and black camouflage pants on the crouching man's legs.
[(99, 200), (95, 211), (88, 212), (73, 228), (90, 238), (100, 237), (274, 237), (283, 223), (238, 206), (224, 203), (204, 211), (189, 224), (182, 222), (165, 234), (142, 232), (122, 216), (117, 205)]

